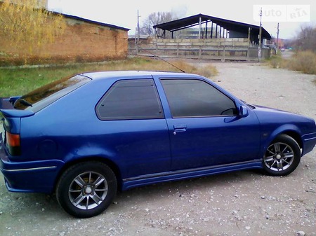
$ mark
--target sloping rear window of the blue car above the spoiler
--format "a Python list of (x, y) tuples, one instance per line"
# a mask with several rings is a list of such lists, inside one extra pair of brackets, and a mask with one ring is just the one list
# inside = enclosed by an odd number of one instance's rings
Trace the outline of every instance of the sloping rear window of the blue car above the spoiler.
[(58, 81), (48, 83), (41, 88), (23, 95), (14, 103), (14, 108), (19, 110), (31, 110), (37, 112), (60, 97), (67, 95), (81, 85), (91, 81), (90, 78), (80, 75), (72, 75), (61, 78)]

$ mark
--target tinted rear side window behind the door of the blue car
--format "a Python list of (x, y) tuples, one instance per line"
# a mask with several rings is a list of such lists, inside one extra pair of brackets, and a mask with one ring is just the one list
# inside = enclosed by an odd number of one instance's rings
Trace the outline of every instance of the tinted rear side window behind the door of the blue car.
[(100, 120), (164, 118), (152, 79), (117, 81), (96, 106)]

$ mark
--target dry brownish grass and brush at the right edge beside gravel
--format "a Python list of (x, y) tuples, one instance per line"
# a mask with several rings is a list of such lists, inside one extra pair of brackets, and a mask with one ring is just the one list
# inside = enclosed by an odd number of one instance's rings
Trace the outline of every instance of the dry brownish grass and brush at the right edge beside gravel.
[(288, 60), (280, 55), (273, 55), (266, 62), (272, 68), (285, 68), (302, 71), (305, 74), (316, 74), (316, 53), (312, 51), (299, 51)]

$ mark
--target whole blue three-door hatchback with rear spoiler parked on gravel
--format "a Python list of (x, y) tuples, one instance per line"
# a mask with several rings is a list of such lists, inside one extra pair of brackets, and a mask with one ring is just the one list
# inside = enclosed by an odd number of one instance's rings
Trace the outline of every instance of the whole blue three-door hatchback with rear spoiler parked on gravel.
[(315, 120), (246, 104), (195, 74), (74, 74), (0, 105), (8, 190), (55, 193), (80, 218), (117, 190), (242, 169), (284, 176), (316, 144)]

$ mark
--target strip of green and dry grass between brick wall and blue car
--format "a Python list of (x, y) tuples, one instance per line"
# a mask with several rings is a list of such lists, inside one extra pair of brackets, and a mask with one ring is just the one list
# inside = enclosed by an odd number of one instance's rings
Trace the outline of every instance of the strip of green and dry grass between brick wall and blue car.
[[(216, 67), (213, 67), (211, 64), (207, 67), (199, 68), (182, 60), (175, 60), (172, 64), (175, 64), (176, 67), (187, 73), (199, 74), (207, 78), (217, 74)], [(150, 70), (180, 72), (176, 67), (162, 60), (134, 57), (120, 61), (73, 64), (56, 67), (0, 68), (0, 97), (23, 95), (51, 81), (85, 71)]]

